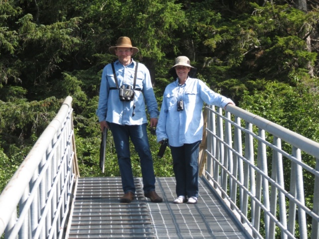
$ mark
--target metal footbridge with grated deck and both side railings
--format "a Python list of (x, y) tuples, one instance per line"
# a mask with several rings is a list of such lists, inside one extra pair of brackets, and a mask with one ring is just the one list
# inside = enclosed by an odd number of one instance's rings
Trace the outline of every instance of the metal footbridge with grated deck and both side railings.
[(118, 177), (80, 177), (67, 97), (0, 194), (5, 239), (319, 239), (319, 143), (235, 106), (205, 107), (199, 199), (120, 204)]

